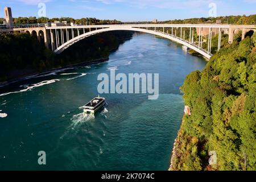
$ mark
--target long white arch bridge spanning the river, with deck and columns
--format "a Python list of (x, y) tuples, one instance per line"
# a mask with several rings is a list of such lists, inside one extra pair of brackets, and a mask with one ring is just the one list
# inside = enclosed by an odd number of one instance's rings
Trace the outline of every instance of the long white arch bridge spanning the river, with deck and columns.
[[(29, 27), (14, 28), (13, 31), (27, 32), (36, 36), (46, 47), (55, 53), (61, 53), (76, 42), (108, 31), (138, 31), (160, 36), (176, 43), (182, 44), (204, 57), (212, 57), (212, 37), (218, 35), (217, 50), (221, 48), (222, 34), (229, 35), (229, 43), (233, 42), (234, 34), (242, 31), (242, 39), (246, 32), (256, 31), (255, 25), (229, 25), (229, 24), (112, 24), (94, 26), (61, 26), (61, 27)], [(205, 39), (208, 38), (208, 40)], [(202, 48), (203, 43), (207, 48)]]

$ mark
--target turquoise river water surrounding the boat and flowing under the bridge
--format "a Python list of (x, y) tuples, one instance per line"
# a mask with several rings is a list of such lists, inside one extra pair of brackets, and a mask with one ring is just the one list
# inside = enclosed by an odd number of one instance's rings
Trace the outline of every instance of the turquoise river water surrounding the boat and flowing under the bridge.
[[(0, 169), (167, 170), (183, 117), (185, 76), (200, 57), (152, 35), (135, 35), (106, 63), (38, 75), (0, 88)], [(80, 106), (97, 96), (97, 76), (159, 73), (158, 100), (147, 94), (102, 94), (94, 116)], [(46, 151), (46, 166), (38, 152)]]

